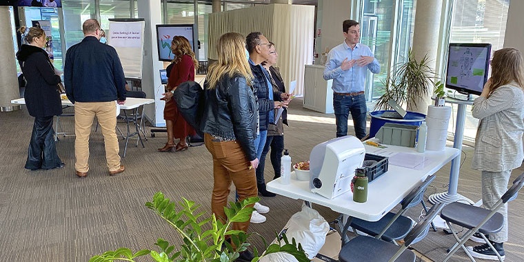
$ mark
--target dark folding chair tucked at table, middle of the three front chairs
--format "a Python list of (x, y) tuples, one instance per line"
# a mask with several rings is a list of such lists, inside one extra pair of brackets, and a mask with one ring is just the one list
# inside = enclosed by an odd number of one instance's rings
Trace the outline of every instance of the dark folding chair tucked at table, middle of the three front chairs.
[[(375, 222), (355, 218), (352, 219), (350, 227), (353, 228), (354, 232), (359, 230), (365, 234), (374, 236), (377, 239), (383, 239), (384, 241), (390, 241), (396, 244), (396, 240), (403, 239), (407, 233), (410, 232), (414, 223), (412, 219), (403, 216), (403, 214), (407, 209), (412, 208), (419, 203), (423, 203), (424, 192), (427, 186), (430, 185), (434, 179), (435, 175), (433, 174), (413, 188), (401, 201), (401, 209), (398, 212), (388, 212), (382, 219)], [(425, 203), (423, 204), (423, 207), (425, 212), (427, 212)]]

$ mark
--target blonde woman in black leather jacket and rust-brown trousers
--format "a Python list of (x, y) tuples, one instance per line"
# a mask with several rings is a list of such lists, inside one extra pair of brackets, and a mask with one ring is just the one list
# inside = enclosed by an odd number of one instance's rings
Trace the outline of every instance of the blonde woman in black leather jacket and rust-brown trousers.
[[(234, 183), (239, 201), (258, 194), (255, 170), (259, 165), (254, 148), (258, 106), (250, 83), (253, 79), (245, 42), (241, 34), (228, 32), (216, 43), (219, 59), (213, 63), (204, 83), (206, 107), (201, 130), (205, 147), (213, 157), (211, 210), (225, 222), (224, 206)], [(250, 221), (233, 223), (234, 230), (248, 231)], [(251, 261), (248, 250), (240, 259)]]

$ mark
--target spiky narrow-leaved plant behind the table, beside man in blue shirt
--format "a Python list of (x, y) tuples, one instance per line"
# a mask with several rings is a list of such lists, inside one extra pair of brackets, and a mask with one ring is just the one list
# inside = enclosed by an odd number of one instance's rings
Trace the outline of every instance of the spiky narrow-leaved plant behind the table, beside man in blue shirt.
[(416, 108), (419, 99), (428, 97), (434, 86), (433, 79), (436, 77), (434, 70), (430, 67), (430, 59), (427, 54), (417, 61), (413, 52), (407, 53), (407, 61), (397, 65), (396, 70), (387, 76), (382, 82), (383, 95), (376, 100), (375, 109), (392, 109), (387, 103), (393, 99), (400, 105), (408, 108)]

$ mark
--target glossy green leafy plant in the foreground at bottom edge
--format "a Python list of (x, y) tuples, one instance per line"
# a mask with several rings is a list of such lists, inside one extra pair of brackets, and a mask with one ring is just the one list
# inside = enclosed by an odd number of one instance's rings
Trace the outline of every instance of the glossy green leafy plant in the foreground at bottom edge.
[[(93, 256), (89, 261), (134, 261), (137, 257), (148, 254), (157, 262), (234, 261), (239, 257), (239, 252), (245, 251), (250, 245), (247, 242), (250, 234), (246, 234), (241, 230), (231, 230), (231, 225), (234, 222), (248, 221), (250, 214), (254, 211), (254, 208), (248, 206), (259, 200), (258, 197), (252, 197), (241, 202), (231, 202), (229, 208), (224, 208), (228, 219), (225, 223), (222, 223), (216, 219), (214, 214), (208, 219), (203, 219), (205, 212), (196, 213), (200, 205), (196, 205), (193, 201), (182, 199), (177, 205), (174, 201), (165, 198), (161, 192), (157, 192), (153, 196), (153, 201), (145, 203), (145, 206), (154, 210), (156, 214), (168, 222), (180, 234), (183, 243), (181, 243), (179, 248), (177, 249), (174, 245), (170, 245), (164, 239), (158, 239), (157, 243), (155, 243), (159, 248), (158, 252), (154, 250), (132, 252), (128, 248), (119, 248), (118, 250), (107, 251), (101, 255)], [(205, 230), (205, 228), (210, 229)], [(230, 239), (236, 248), (226, 239)], [(285, 235), (282, 241), (284, 241), (283, 245), (281, 245), (282, 243), (279, 240), (277, 243), (270, 245), (261, 256), (275, 252), (287, 252), (300, 262), (310, 261), (300, 243), (296, 245), (294, 239), (290, 243)], [(266, 243), (265, 240), (263, 242)], [(267, 246), (267, 244), (265, 245)], [(258, 256), (256, 248), (254, 248), (254, 254), (255, 258), (252, 262), (259, 261), (261, 256)]]

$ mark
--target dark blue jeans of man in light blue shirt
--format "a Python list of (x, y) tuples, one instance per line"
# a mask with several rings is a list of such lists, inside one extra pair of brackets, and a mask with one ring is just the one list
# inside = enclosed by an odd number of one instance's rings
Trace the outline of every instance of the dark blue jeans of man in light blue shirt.
[(347, 119), (350, 113), (353, 119), (356, 138), (363, 139), (363, 137), (365, 137), (367, 108), (364, 94), (355, 96), (350, 96), (349, 94), (333, 94), (333, 109), (336, 119), (336, 137), (344, 137), (347, 135)]

